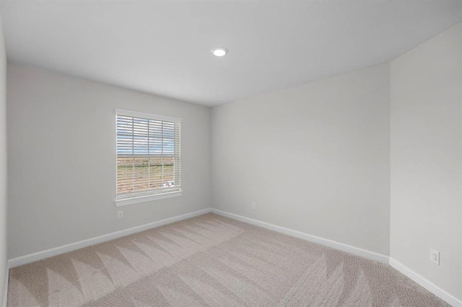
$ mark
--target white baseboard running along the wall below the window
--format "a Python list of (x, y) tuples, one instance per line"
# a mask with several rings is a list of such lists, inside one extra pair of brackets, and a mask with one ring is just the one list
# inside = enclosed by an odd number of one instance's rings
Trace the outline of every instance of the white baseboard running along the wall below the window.
[(33, 261), (45, 259), (45, 258), (48, 258), (48, 257), (52, 257), (52, 256), (56, 256), (56, 255), (59, 255), (59, 254), (67, 253), (67, 252), (70, 252), (70, 251), (73, 251), (73, 250), (81, 249), (81, 248), (88, 247), (88, 246), (91, 246), (91, 245), (95, 245), (95, 244), (98, 244), (98, 243), (106, 242), (106, 241), (109, 241), (109, 240), (112, 240), (112, 239), (115, 239), (115, 238), (118, 238), (118, 237), (123, 237), (123, 236), (129, 235), (129, 234), (132, 234), (132, 233), (136, 233), (136, 232), (144, 231), (144, 230), (147, 230), (147, 229), (156, 228), (156, 227), (159, 227), (159, 226), (163, 226), (163, 225), (171, 224), (171, 223), (174, 223), (174, 222), (186, 220), (186, 218), (191, 218), (191, 217), (194, 217), (194, 216), (209, 213), (210, 211), (211, 211), (211, 209), (207, 208), (207, 209), (203, 209), (203, 210), (199, 210), (199, 211), (195, 211), (195, 212), (191, 212), (191, 213), (177, 215), (177, 216), (166, 218), (165, 220), (160, 220), (160, 221), (157, 221), (157, 222), (151, 222), (151, 223), (148, 223), (148, 224), (139, 225), (139, 226), (135, 226), (135, 227), (124, 229), (124, 230), (114, 231), (114, 232), (111, 232), (111, 233), (108, 233), (108, 234), (104, 234), (104, 235), (100, 235), (100, 236), (97, 236), (97, 237), (85, 239), (85, 240), (82, 240), (82, 241), (78, 241), (78, 242), (66, 244), (66, 245), (63, 245), (63, 246), (50, 248), (48, 250), (35, 252), (35, 253), (32, 253), (32, 254), (28, 254), (28, 255), (24, 255), (24, 256), (20, 256), (20, 257), (16, 257), (16, 258), (8, 260), (8, 267), (13, 268), (13, 267), (21, 266), (21, 265), (28, 264), (28, 263), (33, 262)]

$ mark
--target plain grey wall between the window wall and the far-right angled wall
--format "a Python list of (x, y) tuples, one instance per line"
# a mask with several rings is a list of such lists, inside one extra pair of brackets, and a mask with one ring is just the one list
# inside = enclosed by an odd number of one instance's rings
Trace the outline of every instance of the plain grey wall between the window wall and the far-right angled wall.
[(213, 107), (214, 206), (388, 255), (389, 73), (380, 64)]

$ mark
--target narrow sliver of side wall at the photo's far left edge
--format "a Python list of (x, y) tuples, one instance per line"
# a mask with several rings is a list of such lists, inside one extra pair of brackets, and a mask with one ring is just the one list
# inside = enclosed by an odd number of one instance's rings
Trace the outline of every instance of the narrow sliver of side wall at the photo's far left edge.
[(0, 18), (0, 306), (3, 306), (7, 270), (7, 58)]

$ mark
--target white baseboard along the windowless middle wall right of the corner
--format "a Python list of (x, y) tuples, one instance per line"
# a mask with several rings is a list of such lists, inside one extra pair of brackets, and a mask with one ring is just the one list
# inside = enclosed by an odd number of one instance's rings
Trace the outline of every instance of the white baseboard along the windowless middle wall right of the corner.
[(384, 255), (384, 254), (376, 253), (376, 252), (369, 251), (369, 250), (366, 250), (366, 249), (363, 249), (363, 248), (355, 247), (355, 246), (348, 245), (348, 244), (345, 244), (345, 243), (340, 243), (340, 242), (337, 242), (337, 241), (334, 241), (334, 240), (331, 240), (331, 239), (326, 239), (326, 238), (323, 238), (323, 237), (315, 236), (315, 235), (312, 235), (312, 234), (304, 233), (304, 232), (293, 230), (293, 229), (290, 229), (290, 228), (280, 227), (280, 226), (273, 225), (273, 224), (270, 224), (270, 223), (254, 220), (253, 218), (245, 217), (245, 216), (242, 216), (242, 215), (237, 215), (237, 214), (234, 214), (234, 213), (229, 213), (229, 212), (214, 209), (214, 208), (212, 208), (212, 212), (216, 213), (216, 214), (219, 214), (219, 215), (229, 217), (229, 218), (233, 218), (234, 220), (237, 220), (237, 221), (240, 221), (240, 222), (249, 223), (249, 224), (252, 224), (252, 225), (256, 225), (256, 226), (259, 226), (259, 227), (263, 227), (263, 228), (266, 228), (266, 229), (270, 229), (270, 230), (273, 230), (273, 231), (284, 233), (284, 234), (287, 234), (287, 235), (290, 235), (290, 236), (294, 236), (294, 237), (297, 237), (297, 238), (300, 238), (300, 239), (304, 239), (304, 240), (307, 240), (307, 241), (310, 241), (310, 242), (314, 242), (314, 243), (317, 243), (317, 244), (320, 244), (320, 245), (335, 248), (335, 249), (338, 249), (338, 250), (341, 250), (341, 251), (344, 251), (344, 252), (347, 252), (347, 253), (351, 253), (351, 254), (354, 254), (354, 255), (357, 255), (357, 256), (369, 258), (371, 260), (375, 260), (375, 261), (379, 261), (379, 262), (383, 262), (385, 264), (388, 264), (388, 256)]

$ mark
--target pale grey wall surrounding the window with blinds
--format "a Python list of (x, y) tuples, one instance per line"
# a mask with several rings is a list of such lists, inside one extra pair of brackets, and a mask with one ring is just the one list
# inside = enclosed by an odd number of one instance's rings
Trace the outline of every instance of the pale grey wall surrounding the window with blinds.
[[(183, 118), (183, 196), (115, 207), (114, 108)], [(207, 107), (9, 64), (8, 136), (9, 258), (211, 206)]]

